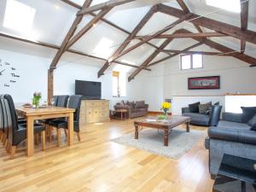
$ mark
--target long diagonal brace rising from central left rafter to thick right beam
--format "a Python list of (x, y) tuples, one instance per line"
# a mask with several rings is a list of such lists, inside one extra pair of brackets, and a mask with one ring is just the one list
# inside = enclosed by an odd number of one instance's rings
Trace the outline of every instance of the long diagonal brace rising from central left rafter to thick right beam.
[[(119, 55), (116, 55), (116, 56), (110, 58), (110, 62), (111, 62), (111, 61), (115, 61), (115, 60), (118, 59), (119, 57), (121, 57), (121, 56), (123, 56), (123, 55), (125, 55), (125, 54), (127, 54), (127, 53), (129, 53), (129, 52), (131, 52), (131, 51), (134, 50), (134, 49), (137, 49), (137, 47), (139, 47), (139, 46), (141, 46), (141, 45), (147, 43), (147, 42), (150, 41), (151, 39), (156, 38), (156, 37), (159, 36), (160, 34), (162, 34), (162, 33), (166, 32), (166, 31), (172, 29), (172, 27), (174, 27), (174, 26), (176, 26), (177, 24), (179, 24), (179, 23), (183, 22), (184, 20), (186, 20), (186, 19), (189, 17), (189, 15), (190, 15), (190, 14), (188, 14), (188, 15), (183, 15), (183, 17), (181, 17), (180, 19), (174, 21), (171, 25), (166, 26), (164, 29), (162, 29), (162, 30), (160, 30), (160, 31), (158, 31), (158, 32), (155, 32), (152, 36), (150, 36), (150, 37), (148, 37), (148, 38), (143, 38), (143, 40), (142, 40), (141, 42), (139, 42), (139, 43), (137, 43), (137, 44), (131, 46), (129, 49), (125, 49), (125, 51), (119, 53)], [(159, 51), (158, 51), (158, 52), (159, 52)]]

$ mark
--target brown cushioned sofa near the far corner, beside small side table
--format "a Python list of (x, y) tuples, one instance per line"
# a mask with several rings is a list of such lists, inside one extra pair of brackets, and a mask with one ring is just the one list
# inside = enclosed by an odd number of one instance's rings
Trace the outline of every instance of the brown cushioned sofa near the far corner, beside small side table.
[(128, 118), (137, 118), (148, 115), (148, 104), (144, 101), (137, 102), (118, 102), (113, 106), (114, 110), (126, 109), (128, 110)]

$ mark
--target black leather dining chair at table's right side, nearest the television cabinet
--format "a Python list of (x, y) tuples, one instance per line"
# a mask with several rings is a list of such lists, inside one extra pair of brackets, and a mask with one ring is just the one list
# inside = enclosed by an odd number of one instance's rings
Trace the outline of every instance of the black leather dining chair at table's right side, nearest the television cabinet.
[[(80, 137), (80, 127), (79, 127), (79, 116), (80, 116), (80, 106), (81, 106), (81, 96), (74, 95), (69, 97), (67, 108), (74, 108), (75, 112), (73, 114), (73, 131), (77, 133), (79, 142)], [(67, 131), (67, 119), (52, 119), (49, 120), (49, 125), (54, 126), (57, 129), (57, 145), (61, 145), (61, 129)]]

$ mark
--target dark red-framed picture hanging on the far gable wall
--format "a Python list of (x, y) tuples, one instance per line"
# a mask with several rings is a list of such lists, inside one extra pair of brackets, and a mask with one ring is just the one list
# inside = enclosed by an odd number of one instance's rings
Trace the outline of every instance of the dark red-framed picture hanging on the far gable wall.
[(188, 87), (189, 90), (218, 90), (220, 89), (219, 79), (219, 76), (189, 78)]

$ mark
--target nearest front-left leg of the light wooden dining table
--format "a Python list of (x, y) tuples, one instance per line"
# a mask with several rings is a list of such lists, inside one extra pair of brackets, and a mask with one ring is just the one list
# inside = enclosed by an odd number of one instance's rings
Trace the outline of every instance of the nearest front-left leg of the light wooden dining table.
[(34, 119), (26, 117), (26, 154), (28, 157), (34, 153)]

